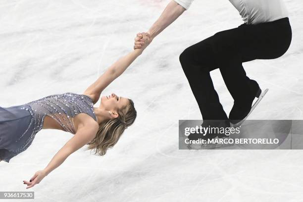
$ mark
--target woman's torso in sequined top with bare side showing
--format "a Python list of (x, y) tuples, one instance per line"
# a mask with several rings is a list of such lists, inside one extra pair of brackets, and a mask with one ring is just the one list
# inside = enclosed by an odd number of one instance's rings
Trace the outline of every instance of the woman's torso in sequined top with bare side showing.
[(93, 100), (88, 95), (64, 93), (25, 104), (34, 117), (37, 130), (57, 129), (75, 134), (86, 121), (97, 121)]

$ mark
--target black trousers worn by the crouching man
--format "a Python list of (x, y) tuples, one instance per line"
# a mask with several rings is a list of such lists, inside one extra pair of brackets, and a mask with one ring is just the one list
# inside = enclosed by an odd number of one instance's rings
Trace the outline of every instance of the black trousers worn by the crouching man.
[(235, 103), (247, 103), (255, 93), (253, 82), (246, 76), (242, 62), (274, 59), (289, 48), (292, 30), (288, 18), (257, 25), (242, 24), (218, 32), (195, 44), (180, 55), (183, 71), (189, 81), (203, 120), (227, 120), (209, 72), (220, 69)]

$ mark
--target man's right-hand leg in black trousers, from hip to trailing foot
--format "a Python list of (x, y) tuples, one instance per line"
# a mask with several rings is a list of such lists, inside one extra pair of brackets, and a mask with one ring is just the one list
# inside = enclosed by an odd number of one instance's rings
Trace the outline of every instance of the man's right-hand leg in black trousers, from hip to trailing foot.
[(283, 55), (291, 42), (288, 18), (238, 28), (214, 35), (213, 47), (224, 82), (234, 99), (229, 114), (232, 120), (243, 119), (250, 111), (258, 84), (246, 76), (242, 62), (273, 59)]

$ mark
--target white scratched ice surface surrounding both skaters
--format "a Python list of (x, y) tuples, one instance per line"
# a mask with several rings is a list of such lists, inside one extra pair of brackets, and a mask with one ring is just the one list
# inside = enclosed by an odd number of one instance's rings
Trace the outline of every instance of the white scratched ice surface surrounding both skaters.
[[(83, 93), (132, 50), (136, 33), (147, 31), (168, 2), (1, 0), (0, 105)], [(250, 119), (303, 119), (303, 1), (285, 2), (290, 49), (278, 59), (244, 63), (247, 75), (269, 88)], [(228, 0), (195, 0), (102, 92), (132, 99), (138, 112), (112, 150), (100, 157), (82, 148), (26, 190), (22, 181), (72, 137), (42, 130), (28, 150), (0, 162), (0, 191), (35, 191), (39, 202), (303, 202), (301, 150), (178, 150), (178, 120), (202, 119), (180, 53), (242, 23)], [(219, 70), (211, 76), (228, 114), (232, 97)]]

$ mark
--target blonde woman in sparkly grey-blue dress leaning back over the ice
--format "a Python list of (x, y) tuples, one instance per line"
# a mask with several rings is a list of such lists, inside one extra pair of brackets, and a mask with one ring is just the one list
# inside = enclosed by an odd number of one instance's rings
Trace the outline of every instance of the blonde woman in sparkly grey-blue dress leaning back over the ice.
[[(148, 40), (147, 37), (144, 39)], [(147, 43), (148, 44), (148, 43)], [(58, 129), (74, 136), (53, 156), (45, 169), (31, 180), (27, 188), (38, 184), (73, 152), (88, 144), (95, 154), (104, 155), (124, 130), (132, 125), (137, 112), (134, 102), (115, 94), (102, 96), (99, 107), (94, 104), (101, 92), (142, 53), (133, 50), (112, 64), (83, 94), (64, 93), (7, 108), (0, 107), (0, 160), (9, 160), (25, 151), (41, 129)]]

